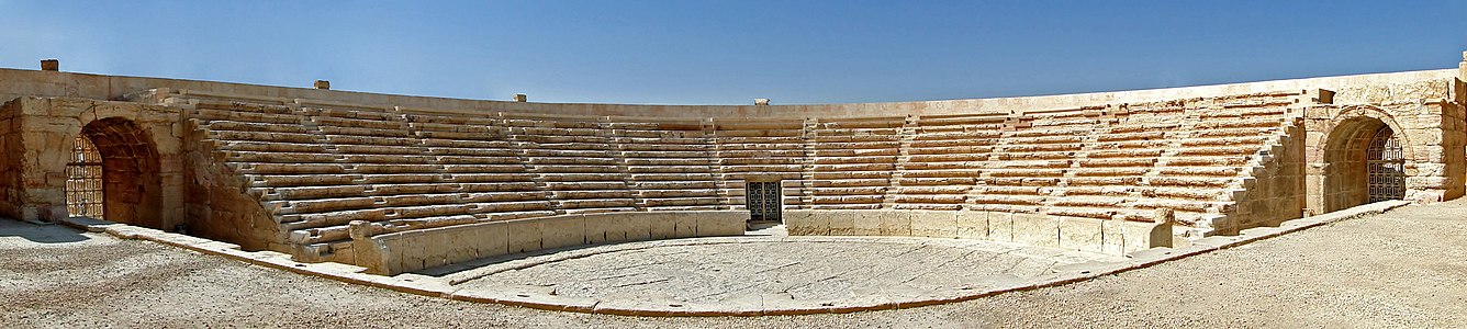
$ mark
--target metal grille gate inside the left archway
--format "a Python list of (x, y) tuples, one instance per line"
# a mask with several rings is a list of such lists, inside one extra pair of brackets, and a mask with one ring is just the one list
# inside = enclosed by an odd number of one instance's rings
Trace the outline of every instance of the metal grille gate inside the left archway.
[(101, 154), (91, 139), (76, 136), (66, 162), (66, 212), (103, 219)]

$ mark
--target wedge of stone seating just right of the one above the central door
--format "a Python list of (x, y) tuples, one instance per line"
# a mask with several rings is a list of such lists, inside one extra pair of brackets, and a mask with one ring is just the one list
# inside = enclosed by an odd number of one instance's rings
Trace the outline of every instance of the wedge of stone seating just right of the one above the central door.
[(905, 117), (817, 121), (808, 136), (811, 208), (883, 208), (905, 123)]

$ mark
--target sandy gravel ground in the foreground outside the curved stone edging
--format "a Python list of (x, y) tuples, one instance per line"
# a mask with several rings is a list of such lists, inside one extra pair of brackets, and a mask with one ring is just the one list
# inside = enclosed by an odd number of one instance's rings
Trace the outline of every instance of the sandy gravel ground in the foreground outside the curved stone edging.
[(622, 317), (340, 284), (0, 219), (3, 328), (1461, 328), (1467, 200), (1093, 281), (892, 311)]

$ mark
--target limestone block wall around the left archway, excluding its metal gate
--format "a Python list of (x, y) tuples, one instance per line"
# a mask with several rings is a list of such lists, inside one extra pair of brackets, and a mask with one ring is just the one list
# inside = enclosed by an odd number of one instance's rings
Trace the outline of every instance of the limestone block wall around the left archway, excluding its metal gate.
[(78, 136), (94, 140), (104, 158), (106, 216), (170, 228), (183, 216), (183, 127), (178, 110), (135, 102), (23, 97), (0, 108), (3, 203), (0, 215), (59, 221), (66, 211), (66, 164)]

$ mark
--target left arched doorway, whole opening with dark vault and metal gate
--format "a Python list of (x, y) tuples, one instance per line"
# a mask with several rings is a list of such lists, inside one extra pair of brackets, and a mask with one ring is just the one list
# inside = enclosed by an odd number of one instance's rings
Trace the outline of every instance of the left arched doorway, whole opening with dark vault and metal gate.
[(73, 143), (66, 186), (70, 216), (164, 230), (158, 151), (145, 130), (126, 118), (101, 118), (84, 126)]

